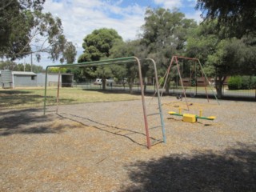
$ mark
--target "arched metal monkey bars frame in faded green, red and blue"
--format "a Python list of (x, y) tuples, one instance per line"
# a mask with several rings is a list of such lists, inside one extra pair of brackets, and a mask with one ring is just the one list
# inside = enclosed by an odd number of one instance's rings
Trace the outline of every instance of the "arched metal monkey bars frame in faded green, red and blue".
[[(146, 61), (149, 61), (151, 64), (154, 65), (154, 78), (156, 79), (156, 87), (157, 87), (157, 93), (158, 93), (158, 114), (161, 118), (161, 126), (162, 127), (162, 141), (166, 143), (166, 131), (165, 131), (165, 125), (163, 121), (163, 116), (162, 116), (162, 104), (161, 104), (161, 97), (160, 97), (160, 92), (158, 90), (158, 72), (157, 72), (157, 67), (156, 63), (154, 62), (153, 59), (151, 58), (146, 58)], [(144, 85), (142, 82), (142, 67), (141, 67), (141, 62), (138, 58), (136, 57), (127, 57), (127, 58), (114, 58), (114, 59), (108, 59), (108, 60), (101, 60), (101, 61), (96, 61), (96, 62), (82, 62), (82, 63), (77, 63), (77, 64), (66, 64), (66, 65), (53, 65), (53, 66), (46, 66), (46, 82), (45, 82), (45, 97), (44, 97), (44, 107), (43, 107), (43, 114), (46, 114), (46, 93), (47, 93), (47, 74), (48, 74), (48, 69), (50, 67), (58, 67), (58, 68), (66, 68), (66, 67), (91, 67), (91, 66), (106, 66), (106, 65), (114, 65), (114, 64), (127, 64), (127, 63), (137, 63), (138, 64), (138, 76), (139, 76), (139, 84), (141, 88), (141, 94), (142, 94), (142, 108), (143, 108), (143, 116), (144, 116), (144, 125), (145, 125), (145, 131), (146, 131), (146, 145), (148, 149), (150, 149), (151, 142), (150, 142), (150, 133), (149, 133), (149, 127), (148, 127), (148, 120), (147, 117), (150, 115), (154, 114), (147, 114), (146, 113), (146, 104), (145, 104), (145, 98), (144, 98)], [(59, 82), (60, 79), (58, 78), (58, 93), (57, 93), (57, 109), (56, 113), (58, 113), (58, 97), (59, 97)], [(159, 127), (159, 126), (158, 126)]]

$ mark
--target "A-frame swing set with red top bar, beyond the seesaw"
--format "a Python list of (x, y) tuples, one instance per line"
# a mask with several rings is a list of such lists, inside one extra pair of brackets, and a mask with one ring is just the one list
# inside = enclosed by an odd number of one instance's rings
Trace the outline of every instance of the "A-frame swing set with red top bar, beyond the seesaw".
[[(190, 61), (198, 62), (199, 70), (201, 71), (202, 78), (204, 79), (203, 84), (204, 84), (205, 91), (206, 91), (206, 98), (207, 98), (207, 100), (208, 100), (208, 102), (209, 102), (209, 97), (208, 97), (208, 93), (207, 93), (207, 89), (206, 89), (206, 86), (207, 86), (206, 84), (208, 84), (208, 85), (210, 86), (210, 89), (212, 90), (212, 92), (213, 92), (213, 94), (214, 94), (214, 98), (215, 98), (216, 101), (218, 102), (218, 98), (217, 98), (216, 94), (214, 93), (214, 90), (213, 90), (213, 88), (212, 88), (212, 86), (211, 86), (211, 83), (210, 83), (210, 81), (208, 80), (208, 78), (206, 77), (206, 74), (204, 73), (204, 71), (203, 71), (203, 69), (202, 69), (201, 62), (199, 61), (198, 58), (186, 58), (186, 57), (182, 57), (182, 56), (173, 56), (173, 57), (171, 58), (171, 61), (170, 61), (170, 66), (168, 67), (168, 69), (166, 70), (166, 74), (164, 75), (165, 82), (164, 82), (163, 87), (166, 86), (166, 82), (167, 82), (168, 76), (169, 76), (169, 74), (170, 74), (171, 66), (173, 66), (173, 64), (176, 64), (176, 66), (177, 66), (177, 71), (178, 71), (178, 77), (179, 77), (179, 79), (180, 79), (180, 83), (181, 83), (181, 86), (182, 86), (182, 94), (178, 94), (178, 95), (177, 95), (177, 98), (178, 98), (178, 99), (181, 99), (181, 100), (182, 100), (182, 98), (185, 98), (187, 110), (190, 110), (189, 105), (188, 105), (188, 102), (187, 102), (187, 99), (186, 99), (186, 89), (184, 88), (184, 85), (183, 85), (182, 72), (181, 72), (181, 70), (180, 70), (180, 65), (179, 65), (179, 63), (178, 63), (178, 59), (179, 59), (179, 58), (182, 59), (183, 61), (184, 61), (184, 60), (190, 60)], [(195, 82), (197, 83), (197, 71), (196, 71), (196, 69), (197, 69), (197, 68), (196, 68), (195, 65), (194, 65), (194, 68), (193, 68), (193, 67), (191, 66), (191, 64), (190, 64), (190, 81), (192, 80), (193, 74), (194, 74), (194, 80), (195, 80)], [(206, 81), (205, 81), (205, 80), (206, 80)], [(162, 91), (162, 92), (163, 92), (163, 91)], [(191, 97), (194, 97), (195, 95), (196, 95), (196, 93), (193, 93), (193, 94), (190, 93), (190, 96), (191, 96)], [(161, 96), (162, 96), (162, 93), (161, 93)], [(219, 102), (218, 102), (218, 104), (219, 104)]]

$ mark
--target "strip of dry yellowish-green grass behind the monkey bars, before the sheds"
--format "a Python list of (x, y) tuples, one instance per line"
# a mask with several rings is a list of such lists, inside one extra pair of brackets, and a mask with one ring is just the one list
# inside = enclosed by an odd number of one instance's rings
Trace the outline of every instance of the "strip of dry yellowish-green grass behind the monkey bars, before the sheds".
[[(56, 105), (57, 89), (47, 89), (46, 105)], [(140, 99), (138, 95), (61, 88), (59, 104), (76, 104), (83, 102), (114, 102)], [(44, 89), (0, 90), (0, 109), (18, 109), (41, 107), (44, 102)]]

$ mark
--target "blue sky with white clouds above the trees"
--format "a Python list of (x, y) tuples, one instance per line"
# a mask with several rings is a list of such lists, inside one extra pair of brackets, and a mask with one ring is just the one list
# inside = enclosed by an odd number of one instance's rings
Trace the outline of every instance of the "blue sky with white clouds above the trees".
[[(64, 34), (68, 41), (73, 42), (78, 51), (77, 58), (82, 54), (82, 42), (86, 35), (100, 28), (117, 30), (124, 41), (138, 38), (140, 27), (144, 24), (146, 8), (178, 8), (186, 18), (200, 22), (200, 10), (195, 10), (196, 0), (46, 0), (44, 12), (50, 12), (61, 18)], [(26, 58), (30, 62), (29, 58)], [(43, 66), (56, 65), (46, 55), (41, 62), (34, 64)]]

